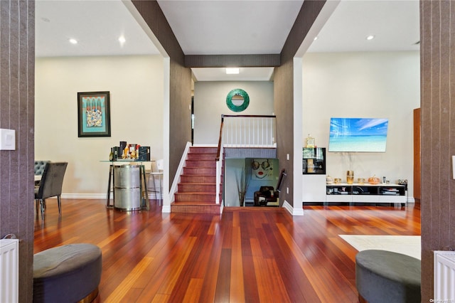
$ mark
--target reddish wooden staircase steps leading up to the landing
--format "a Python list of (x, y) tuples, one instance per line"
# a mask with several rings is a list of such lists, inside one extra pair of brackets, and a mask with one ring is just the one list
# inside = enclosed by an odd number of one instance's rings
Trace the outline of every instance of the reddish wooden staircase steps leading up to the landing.
[(220, 213), (216, 196), (216, 147), (190, 147), (172, 213)]

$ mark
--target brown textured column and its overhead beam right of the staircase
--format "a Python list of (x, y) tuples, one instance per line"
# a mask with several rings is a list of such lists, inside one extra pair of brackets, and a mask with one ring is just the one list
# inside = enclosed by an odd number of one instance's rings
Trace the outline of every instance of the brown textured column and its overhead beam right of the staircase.
[[(274, 74), (274, 112), (277, 115), (277, 157), (289, 161), (280, 161), (280, 168), (286, 169), (287, 177), (282, 185), (280, 200), (288, 201), (292, 206), (301, 207), (301, 201), (293, 201), (294, 196), (294, 55), (304, 41), (311, 25), (316, 20), (326, 1), (305, 0), (299, 15), (284, 44), (281, 53), (282, 65), (275, 68)], [(303, 138), (302, 138), (303, 140)], [(303, 142), (302, 142), (303, 143)], [(285, 188), (289, 187), (289, 193)], [(299, 190), (300, 188), (296, 188)], [(282, 198), (283, 196), (283, 198)], [(296, 204), (297, 203), (297, 204)]]

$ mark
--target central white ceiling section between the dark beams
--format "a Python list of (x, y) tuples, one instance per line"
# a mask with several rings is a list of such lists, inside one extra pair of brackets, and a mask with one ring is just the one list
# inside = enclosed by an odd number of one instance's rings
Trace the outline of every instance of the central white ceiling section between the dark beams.
[(158, 3), (186, 55), (245, 55), (280, 53), (303, 0)]

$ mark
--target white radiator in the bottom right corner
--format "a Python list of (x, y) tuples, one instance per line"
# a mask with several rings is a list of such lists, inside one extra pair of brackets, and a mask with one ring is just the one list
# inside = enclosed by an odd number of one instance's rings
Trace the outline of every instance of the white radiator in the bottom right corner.
[(455, 302), (455, 252), (434, 251), (434, 302)]

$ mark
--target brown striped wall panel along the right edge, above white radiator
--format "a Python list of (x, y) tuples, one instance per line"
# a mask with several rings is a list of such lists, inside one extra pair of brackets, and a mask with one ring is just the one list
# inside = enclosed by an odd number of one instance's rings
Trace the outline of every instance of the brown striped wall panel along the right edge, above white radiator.
[(422, 302), (433, 297), (433, 250), (455, 248), (455, 3), (420, 1)]

